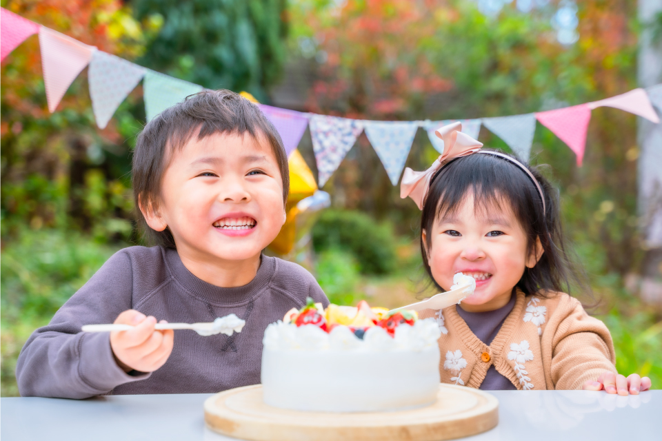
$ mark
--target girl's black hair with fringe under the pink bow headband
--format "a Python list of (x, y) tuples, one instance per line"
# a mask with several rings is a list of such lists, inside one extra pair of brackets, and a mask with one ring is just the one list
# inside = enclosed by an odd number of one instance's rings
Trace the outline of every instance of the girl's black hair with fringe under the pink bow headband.
[[(515, 156), (509, 156), (519, 161)], [(529, 253), (535, 253), (536, 238), (540, 238), (543, 255), (533, 268), (524, 269), (516, 287), (525, 294), (546, 297), (553, 295), (553, 291), (570, 294), (571, 286), (579, 286), (590, 295), (590, 289), (583, 283), (581, 267), (574, 265), (568, 255), (558, 192), (536, 168), (528, 167), (528, 170), (543, 190), (544, 214), (541, 195), (531, 178), (505, 158), (491, 154), (464, 156), (451, 161), (432, 177), (421, 216), (421, 230), (428, 232), (425, 242), (421, 236), (421, 254), (425, 271), (437, 288), (443, 289), (432, 277), (428, 265), (432, 225), (437, 219), (455, 214), (471, 193), (477, 212), (488, 212), (492, 207), (510, 203), (510, 209), (526, 233)]]

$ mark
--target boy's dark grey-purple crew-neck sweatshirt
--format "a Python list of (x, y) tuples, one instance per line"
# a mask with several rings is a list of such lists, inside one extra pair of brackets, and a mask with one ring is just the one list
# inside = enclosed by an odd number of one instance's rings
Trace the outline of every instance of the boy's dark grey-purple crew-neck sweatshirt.
[[(305, 298), (328, 305), (313, 276), (295, 263), (262, 256), (255, 278), (221, 288), (190, 273), (174, 249), (129, 247), (114, 254), (23, 346), (16, 376), (22, 396), (88, 398), (101, 394), (214, 393), (260, 382), (262, 338)], [(240, 334), (203, 337), (174, 331), (172, 353), (152, 373), (124, 372), (114, 361), (110, 333), (81, 326), (112, 323), (137, 309), (168, 322), (211, 322), (237, 314)]]

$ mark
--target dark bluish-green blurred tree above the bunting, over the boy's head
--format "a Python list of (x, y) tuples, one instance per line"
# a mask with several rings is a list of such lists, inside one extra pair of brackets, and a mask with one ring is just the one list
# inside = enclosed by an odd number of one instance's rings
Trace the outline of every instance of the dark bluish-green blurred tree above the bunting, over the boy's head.
[(285, 0), (132, 0), (136, 17), (162, 24), (139, 63), (205, 88), (248, 90), (258, 101), (285, 58)]

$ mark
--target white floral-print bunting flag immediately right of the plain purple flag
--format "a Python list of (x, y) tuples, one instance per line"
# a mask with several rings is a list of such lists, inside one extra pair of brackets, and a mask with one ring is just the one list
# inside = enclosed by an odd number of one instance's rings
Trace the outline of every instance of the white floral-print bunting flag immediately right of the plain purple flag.
[(337, 170), (362, 131), (363, 125), (357, 119), (311, 116), (310, 136), (317, 161), (317, 178), (320, 187), (323, 187)]

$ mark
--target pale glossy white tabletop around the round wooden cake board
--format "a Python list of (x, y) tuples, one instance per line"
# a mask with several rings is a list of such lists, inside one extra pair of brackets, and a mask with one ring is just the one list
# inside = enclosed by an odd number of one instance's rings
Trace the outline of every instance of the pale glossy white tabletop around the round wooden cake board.
[[(662, 390), (638, 396), (590, 391), (491, 391), (499, 425), (488, 440), (654, 440), (662, 428)], [(11, 440), (234, 440), (207, 429), (211, 394), (102, 396), (89, 400), (1, 398), (0, 438)]]

